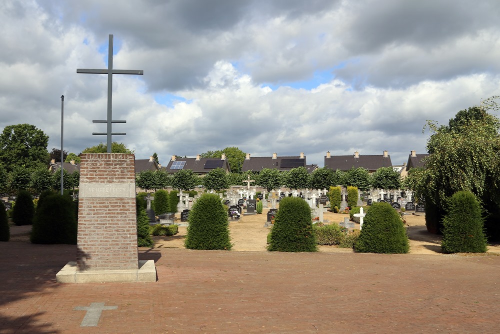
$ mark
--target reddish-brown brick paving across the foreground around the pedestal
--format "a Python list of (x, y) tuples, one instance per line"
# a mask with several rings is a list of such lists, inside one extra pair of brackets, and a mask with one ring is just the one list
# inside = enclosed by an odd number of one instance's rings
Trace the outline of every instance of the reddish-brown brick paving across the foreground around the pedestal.
[(0, 333), (500, 332), (500, 256), (141, 248), (154, 283), (57, 284), (75, 258), (0, 242)]

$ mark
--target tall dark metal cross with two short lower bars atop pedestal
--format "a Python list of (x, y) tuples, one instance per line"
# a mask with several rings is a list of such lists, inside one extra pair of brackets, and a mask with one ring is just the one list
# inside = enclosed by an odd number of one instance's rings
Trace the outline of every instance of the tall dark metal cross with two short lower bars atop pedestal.
[(76, 69), (76, 73), (92, 73), (92, 74), (107, 74), (107, 120), (93, 120), (93, 123), (107, 123), (107, 132), (93, 132), (92, 135), (106, 135), (107, 136), (107, 153), (111, 153), (111, 136), (121, 135), (124, 132), (111, 132), (112, 123), (126, 123), (126, 121), (113, 121), (111, 113), (112, 90), (113, 90), (113, 74), (144, 74), (142, 70), (114, 70), (113, 69), (113, 35), (109, 35), (109, 48), (107, 55), (107, 69), (94, 70), (94, 69)]

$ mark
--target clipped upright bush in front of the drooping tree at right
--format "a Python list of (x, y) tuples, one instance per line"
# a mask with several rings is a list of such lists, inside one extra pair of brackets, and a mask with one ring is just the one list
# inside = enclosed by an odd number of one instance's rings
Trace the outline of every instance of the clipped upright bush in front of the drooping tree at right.
[(484, 253), (484, 217), (474, 194), (457, 191), (447, 203), (443, 218), (441, 248), (443, 253)]

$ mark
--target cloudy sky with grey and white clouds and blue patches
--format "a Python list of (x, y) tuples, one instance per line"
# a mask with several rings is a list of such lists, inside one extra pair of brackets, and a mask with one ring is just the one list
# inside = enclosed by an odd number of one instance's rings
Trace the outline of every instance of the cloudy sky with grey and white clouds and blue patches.
[(0, 131), (29, 123), (78, 154), (113, 140), (137, 159), (238, 147), (252, 156), (425, 153), (426, 120), (500, 95), (500, 2), (2, 0)]

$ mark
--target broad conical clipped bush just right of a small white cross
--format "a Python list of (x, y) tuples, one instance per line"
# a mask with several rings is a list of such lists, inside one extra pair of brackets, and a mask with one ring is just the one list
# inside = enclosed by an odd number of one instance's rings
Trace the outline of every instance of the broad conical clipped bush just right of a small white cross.
[(367, 210), (354, 250), (385, 254), (409, 251), (408, 236), (401, 217), (389, 203), (374, 203)]

